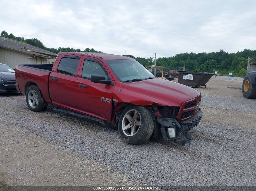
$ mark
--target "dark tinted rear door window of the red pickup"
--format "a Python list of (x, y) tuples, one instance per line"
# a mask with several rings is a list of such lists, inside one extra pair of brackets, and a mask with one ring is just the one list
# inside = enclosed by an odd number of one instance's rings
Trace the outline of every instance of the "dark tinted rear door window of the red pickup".
[(78, 56), (63, 56), (59, 63), (57, 72), (75, 76), (79, 60), (80, 57)]

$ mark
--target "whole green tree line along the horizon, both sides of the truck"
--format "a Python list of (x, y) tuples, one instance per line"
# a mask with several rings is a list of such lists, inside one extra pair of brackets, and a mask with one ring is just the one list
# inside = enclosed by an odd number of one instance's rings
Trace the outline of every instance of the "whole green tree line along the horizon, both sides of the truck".
[[(5, 30), (2, 31), (1, 37), (11, 38), (28, 43), (33, 46), (48, 50), (50, 52), (58, 54), (59, 52), (96, 52), (93, 48), (86, 48), (85, 50), (74, 48), (47, 48), (43, 43), (36, 39), (24, 39), (24, 37), (15, 37), (12, 33), (8, 34)], [(161, 57), (156, 60), (157, 66), (171, 66), (181, 67), (186, 64), (186, 71), (192, 72), (214, 72), (218, 71), (218, 74), (226, 75), (232, 73), (234, 75), (245, 75), (247, 69), (248, 56), (252, 61), (256, 61), (256, 50), (244, 49), (242, 52), (227, 53), (223, 49), (218, 52), (212, 53), (181, 53), (172, 57)], [(154, 59), (150, 58), (135, 58), (143, 65), (151, 66), (154, 64)], [(168, 70), (168, 67), (165, 68)]]

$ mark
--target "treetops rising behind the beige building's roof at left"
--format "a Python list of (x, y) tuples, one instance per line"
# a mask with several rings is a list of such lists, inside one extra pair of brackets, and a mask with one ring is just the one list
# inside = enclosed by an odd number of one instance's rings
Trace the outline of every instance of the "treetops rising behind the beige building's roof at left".
[(10, 38), (13, 40), (19, 40), (22, 41), (23, 43), (27, 43), (33, 46), (36, 46), (38, 48), (42, 48), (45, 50), (48, 50), (52, 53), (60, 53), (60, 52), (91, 52), (91, 53), (102, 53), (101, 51), (97, 51), (93, 48), (89, 49), (86, 48), (85, 50), (81, 50), (81, 49), (74, 49), (74, 48), (64, 48), (64, 47), (59, 47), (58, 49), (56, 48), (47, 48), (46, 46), (43, 45), (43, 43), (38, 40), (37, 38), (31, 38), (31, 39), (24, 39), (24, 37), (15, 37), (12, 33), (8, 34), (5, 30), (3, 30), (1, 32), (1, 37), (5, 37), (5, 38)]

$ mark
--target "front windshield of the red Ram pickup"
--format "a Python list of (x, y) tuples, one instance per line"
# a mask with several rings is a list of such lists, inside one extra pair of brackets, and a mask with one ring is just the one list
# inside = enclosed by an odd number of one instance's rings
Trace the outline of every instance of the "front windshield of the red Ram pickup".
[(105, 60), (121, 82), (139, 81), (155, 76), (136, 60)]

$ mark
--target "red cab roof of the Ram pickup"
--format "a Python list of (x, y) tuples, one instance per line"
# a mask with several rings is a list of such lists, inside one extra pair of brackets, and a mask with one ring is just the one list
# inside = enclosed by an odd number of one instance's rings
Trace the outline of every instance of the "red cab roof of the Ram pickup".
[(115, 54), (105, 54), (105, 53), (91, 53), (91, 52), (62, 52), (65, 54), (80, 54), (87, 56), (97, 56), (102, 58), (103, 60), (134, 60), (133, 58), (127, 56), (119, 56)]

